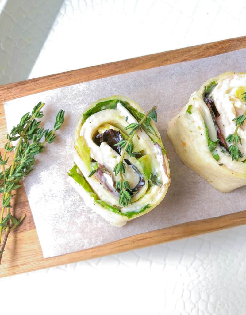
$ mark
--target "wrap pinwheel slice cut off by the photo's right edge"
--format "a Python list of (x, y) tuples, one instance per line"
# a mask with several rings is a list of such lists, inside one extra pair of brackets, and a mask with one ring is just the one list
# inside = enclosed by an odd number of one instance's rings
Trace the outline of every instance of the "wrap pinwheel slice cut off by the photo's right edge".
[(168, 123), (180, 159), (221, 192), (246, 184), (246, 73), (206, 81)]

